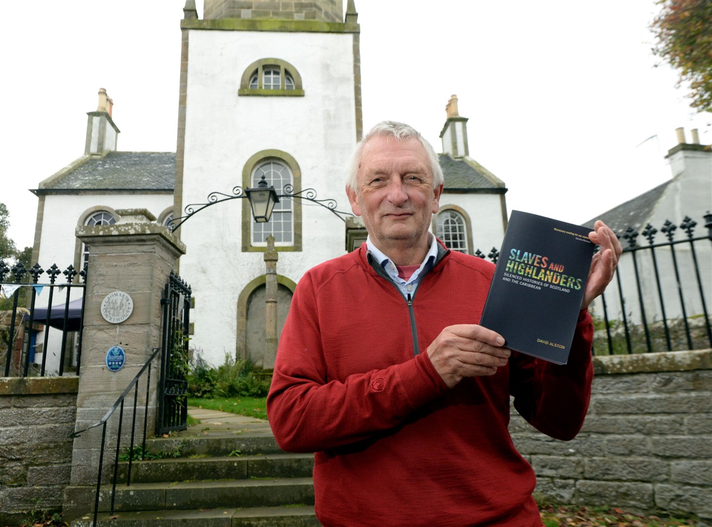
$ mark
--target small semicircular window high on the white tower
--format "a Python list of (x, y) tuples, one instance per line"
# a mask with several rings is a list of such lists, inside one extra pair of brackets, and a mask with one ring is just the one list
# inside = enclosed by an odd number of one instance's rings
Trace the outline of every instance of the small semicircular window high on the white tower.
[(304, 95), (294, 66), (279, 58), (254, 61), (242, 74), (238, 95)]

